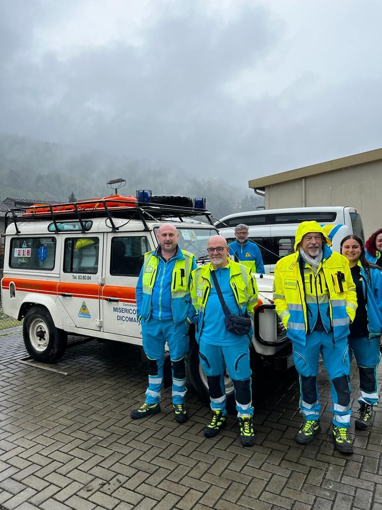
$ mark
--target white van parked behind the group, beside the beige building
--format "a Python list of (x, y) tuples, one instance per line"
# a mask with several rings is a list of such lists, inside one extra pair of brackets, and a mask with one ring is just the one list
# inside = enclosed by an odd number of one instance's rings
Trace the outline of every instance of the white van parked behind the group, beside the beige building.
[(267, 209), (230, 214), (215, 222), (228, 242), (235, 239), (234, 228), (243, 223), (249, 226), (249, 239), (258, 244), (265, 272), (273, 273), (276, 262), (293, 252), (297, 226), (302, 221), (317, 221), (321, 225), (338, 225), (332, 238), (332, 249), (340, 250), (342, 239), (357, 234), (364, 240), (362, 219), (357, 209), (343, 206)]

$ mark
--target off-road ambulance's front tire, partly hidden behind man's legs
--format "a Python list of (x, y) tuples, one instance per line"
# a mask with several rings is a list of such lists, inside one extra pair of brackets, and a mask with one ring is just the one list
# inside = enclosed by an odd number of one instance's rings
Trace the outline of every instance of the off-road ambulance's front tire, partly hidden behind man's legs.
[[(204, 373), (199, 359), (199, 345), (194, 342), (187, 355), (187, 375), (190, 383), (193, 385), (199, 398), (205, 405), (209, 405), (209, 391), (207, 376)], [(227, 370), (224, 376), (224, 386), (226, 388), (226, 409), (230, 414), (236, 414), (235, 390), (232, 379)]]

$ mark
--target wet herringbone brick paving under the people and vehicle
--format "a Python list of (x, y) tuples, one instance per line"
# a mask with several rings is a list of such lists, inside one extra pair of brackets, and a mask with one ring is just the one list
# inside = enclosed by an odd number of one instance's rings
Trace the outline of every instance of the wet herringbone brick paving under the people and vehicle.
[(191, 392), (186, 424), (173, 420), (168, 390), (161, 414), (132, 421), (146, 385), (134, 347), (81, 343), (54, 365), (61, 373), (20, 363), (25, 355), (19, 333), (0, 338), (0, 508), (382, 510), (382, 413), (371, 432), (357, 431), (352, 456), (334, 452), (324, 376), (311, 445), (293, 441), (291, 373), (283, 384), (262, 378), (270, 390), (256, 399), (256, 445), (244, 449), (233, 417), (204, 438), (209, 411)]

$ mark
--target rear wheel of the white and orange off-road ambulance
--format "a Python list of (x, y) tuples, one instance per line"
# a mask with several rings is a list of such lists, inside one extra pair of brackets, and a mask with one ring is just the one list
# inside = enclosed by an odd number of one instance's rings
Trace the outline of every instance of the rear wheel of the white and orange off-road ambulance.
[(46, 308), (36, 305), (25, 315), (22, 334), (31, 358), (52, 363), (61, 358), (67, 345), (67, 334), (54, 326)]

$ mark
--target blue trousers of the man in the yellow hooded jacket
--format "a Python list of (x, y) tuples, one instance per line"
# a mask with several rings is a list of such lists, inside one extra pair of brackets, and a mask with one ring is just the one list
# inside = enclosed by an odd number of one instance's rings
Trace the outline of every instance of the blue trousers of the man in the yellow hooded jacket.
[(322, 361), (332, 383), (333, 423), (350, 427), (350, 361), (347, 338), (333, 343), (333, 332), (313, 331), (306, 345), (293, 342), (293, 360), (300, 379), (300, 412), (305, 420), (318, 420), (320, 402), (317, 389), (318, 359)]

